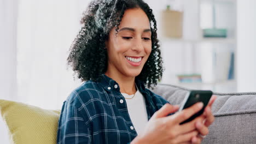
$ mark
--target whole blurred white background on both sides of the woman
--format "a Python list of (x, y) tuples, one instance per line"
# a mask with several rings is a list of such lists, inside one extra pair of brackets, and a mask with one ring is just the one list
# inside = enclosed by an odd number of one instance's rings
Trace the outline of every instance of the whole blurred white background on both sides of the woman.
[[(214, 92), (256, 90), (256, 1), (145, 0), (158, 22), (160, 83)], [(85, 0), (0, 0), (0, 99), (61, 109), (80, 80), (66, 58)], [(1, 143), (9, 143), (0, 119)]]

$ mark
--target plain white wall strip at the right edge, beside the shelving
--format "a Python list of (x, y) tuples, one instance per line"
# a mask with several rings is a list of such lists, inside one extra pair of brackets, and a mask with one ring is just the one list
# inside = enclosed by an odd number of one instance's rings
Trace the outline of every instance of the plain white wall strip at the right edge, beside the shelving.
[(256, 91), (256, 1), (237, 0), (237, 91)]

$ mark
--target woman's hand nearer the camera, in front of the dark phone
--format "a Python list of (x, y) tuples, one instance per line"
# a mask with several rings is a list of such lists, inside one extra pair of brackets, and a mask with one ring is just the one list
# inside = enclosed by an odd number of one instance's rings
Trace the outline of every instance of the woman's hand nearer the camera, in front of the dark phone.
[[(202, 103), (174, 115), (167, 116), (178, 110), (178, 106), (165, 104), (159, 111), (156, 111), (144, 129), (144, 132), (138, 135), (131, 144), (134, 143), (191, 143), (193, 137), (199, 134), (196, 129), (196, 122), (202, 122), (205, 117), (197, 117), (191, 122), (180, 125), (189, 117), (199, 112), (203, 107)], [(201, 130), (201, 129), (200, 129)], [(197, 138), (196, 138), (197, 139)]]

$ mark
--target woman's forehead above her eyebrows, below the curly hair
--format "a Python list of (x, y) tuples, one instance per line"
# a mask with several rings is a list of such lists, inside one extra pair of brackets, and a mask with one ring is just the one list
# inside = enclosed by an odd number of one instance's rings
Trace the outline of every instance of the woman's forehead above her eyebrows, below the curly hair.
[(119, 25), (119, 28), (122, 27), (150, 29), (150, 23), (147, 14), (142, 9), (127, 9)]

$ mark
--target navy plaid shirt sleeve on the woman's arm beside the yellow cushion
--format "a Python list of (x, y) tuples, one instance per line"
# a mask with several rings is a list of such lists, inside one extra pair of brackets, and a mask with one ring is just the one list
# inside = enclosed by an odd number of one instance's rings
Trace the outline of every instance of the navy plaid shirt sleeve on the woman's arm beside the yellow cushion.
[(57, 131), (57, 144), (61, 143), (92, 143), (90, 125), (86, 124), (82, 111), (66, 101), (62, 106)]

